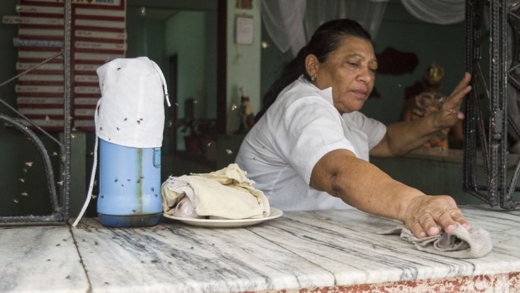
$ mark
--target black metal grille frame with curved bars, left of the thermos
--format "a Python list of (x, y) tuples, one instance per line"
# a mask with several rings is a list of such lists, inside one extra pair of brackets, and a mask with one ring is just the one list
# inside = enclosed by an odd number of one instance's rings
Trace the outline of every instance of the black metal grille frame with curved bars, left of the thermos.
[[(69, 195), (70, 195), (70, 186), (71, 186), (71, 0), (64, 1), (64, 47), (60, 53), (55, 54), (51, 58), (46, 59), (44, 62), (40, 63), (36, 67), (28, 69), (26, 72), (15, 76), (18, 78), (21, 75), (24, 75), (28, 72), (31, 72), (35, 68), (44, 64), (45, 62), (52, 60), (58, 56), (63, 56), (63, 70), (64, 70), (64, 142), (58, 142), (53, 137), (51, 137), (55, 142), (60, 145), (62, 164), (63, 164), (63, 194), (61, 200), (58, 199), (58, 192), (55, 186), (55, 178), (53, 174), (53, 169), (51, 166), (51, 160), (49, 158), (49, 154), (47, 153), (44, 144), (40, 140), (37, 135), (31, 129), (27, 128), (21, 122), (18, 122), (17, 119), (12, 117), (8, 117), (6, 115), (0, 115), (0, 121), (6, 122), (13, 126), (17, 130), (21, 131), (28, 137), (31, 142), (35, 144), (38, 151), (40, 151), (40, 155), (44, 160), (44, 165), (46, 169), (47, 176), (47, 185), (49, 187), (49, 194), (51, 196), (51, 206), (52, 212), (51, 215), (21, 215), (21, 216), (0, 216), (0, 224), (2, 223), (48, 223), (48, 222), (67, 222), (69, 219)], [(10, 80), (2, 83), (1, 85), (5, 85), (6, 83), (14, 80), (15, 78), (10, 78)], [(1, 86), (0, 85), (0, 86)], [(1, 101), (1, 99), (0, 99)], [(4, 103), (4, 105), (8, 106), (8, 104)], [(36, 126), (31, 122), (30, 119), (26, 118), (20, 112), (15, 110), (14, 108), (8, 106), (11, 110), (17, 113), (19, 117), (25, 119), (29, 124), (33, 125), (38, 130), (42, 131), (46, 135), (48, 135), (42, 128)], [(50, 137), (50, 135), (49, 135)]]

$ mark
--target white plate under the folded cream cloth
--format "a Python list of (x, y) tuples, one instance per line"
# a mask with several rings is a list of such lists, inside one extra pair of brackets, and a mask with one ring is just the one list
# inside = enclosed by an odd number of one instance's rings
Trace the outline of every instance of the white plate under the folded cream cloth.
[(255, 224), (259, 224), (262, 221), (267, 221), (270, 219), (276, 219), (283, 215), (284, 212), (278, 210), (277, 208), (271, 208), (271, 212), (269, 217), (257, 218), (257, 219), (191, 219), (185, 217), (175, 217), (172, 215), (162, 214), (164, 217), (168, 219), (175, 219), (177, 221), (182, 221), (185, 224), (190, 224), (193, 226), (200, 227), (211, 227), (211, 228), (234, 228), (234, 227), (245, 227), (252, 226)]

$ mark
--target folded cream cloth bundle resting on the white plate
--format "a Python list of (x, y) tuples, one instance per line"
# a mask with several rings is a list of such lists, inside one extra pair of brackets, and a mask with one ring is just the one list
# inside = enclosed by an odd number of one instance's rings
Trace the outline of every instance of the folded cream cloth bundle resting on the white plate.
[(267, 197), (252, 185), (253, 181), (236, 164), (211, 173), (170, 176), (161, 187), (163, 211), (173, 215), (177, 203), (187, 196), (199, 216), (268, 217)]

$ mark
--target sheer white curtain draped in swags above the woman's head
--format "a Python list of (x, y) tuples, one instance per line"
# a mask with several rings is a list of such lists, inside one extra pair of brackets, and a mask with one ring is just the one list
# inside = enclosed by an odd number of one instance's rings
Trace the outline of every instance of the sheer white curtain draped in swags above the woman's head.
[[(277, 47), (293, 56), (316, 28), (331, 19), (350, 18), (376, 38), (389, 0), (262, 0), (262, 20)], [(465, 17), (465, 0), (401, 0), (423, 22), (455, 24)]]

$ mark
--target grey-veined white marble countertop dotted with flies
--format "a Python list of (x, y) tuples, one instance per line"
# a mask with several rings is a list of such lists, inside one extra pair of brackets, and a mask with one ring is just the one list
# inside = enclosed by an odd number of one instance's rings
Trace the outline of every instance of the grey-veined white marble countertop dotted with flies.
[(0, 292), (273, 292), (519, 278), (520, 211), (462, 210), (472, 226), (492, 235), (493, 251), (483, 258), (418, 251), (398, 235), (377, 234), (397, 222), (358, 210), (284, 212), (243, 228), (202, 228), (166, 218), (148, 228), (106, 228), (92, 218), (76, 228), (2, 226)]

